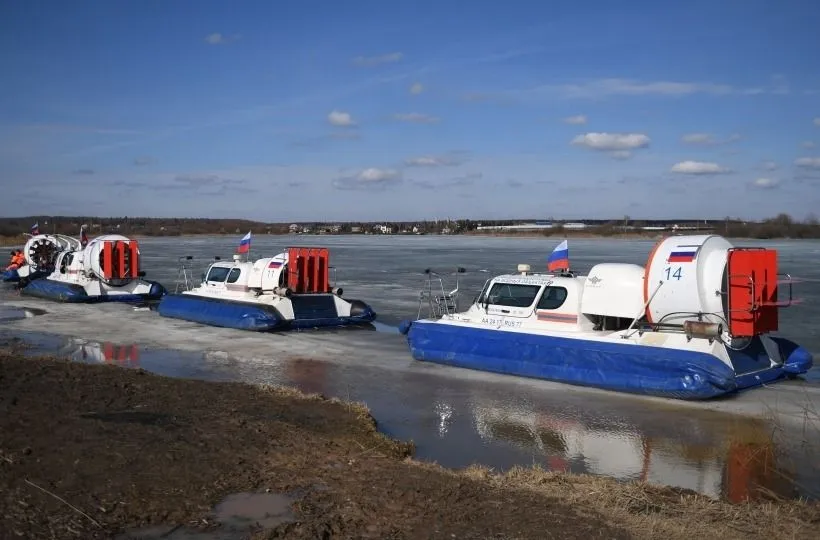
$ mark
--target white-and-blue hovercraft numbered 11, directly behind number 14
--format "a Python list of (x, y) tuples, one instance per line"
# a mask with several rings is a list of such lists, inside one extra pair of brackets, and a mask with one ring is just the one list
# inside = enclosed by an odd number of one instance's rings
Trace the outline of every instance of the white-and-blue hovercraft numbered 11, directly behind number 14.
[(208, 267), (198, 287), (163, 297), (164, 317), (257, 332), (366, 325), (376, 313), (331, 286), (326, 248), (291, 247), (254, 262), (234, 255)]

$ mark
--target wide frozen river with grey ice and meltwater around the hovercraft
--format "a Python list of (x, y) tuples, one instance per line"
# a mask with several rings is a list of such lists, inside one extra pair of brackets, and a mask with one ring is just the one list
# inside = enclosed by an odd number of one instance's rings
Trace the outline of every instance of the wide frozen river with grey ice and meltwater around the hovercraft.
[[(170, 290), (177, 259), (193, 256), (199, 278), (233, 237), (141, 240), (149, 279)], [(62, 305), (0, 294), (4, 337), (78, 361), (140, 366), (209, 380), (295, 385), (363, 401), (380, 428), (412, 439), (417, 456), (445, 466), (498, 469), (541, 464), (619, 479), (646, 479), (740, 500), (762, 485), (783, 496), (820, 496), (820, 370), (806, 381), (728, 400), (682, 403), (624, 396), (414, 362), (402, 319), (415, 318), (425, 268), (461, 275), (462, 307), (484, 281), (518, 263), (543, 268), (556, 239), (463, 236), (257, 236), (252, 256), (290, 245), (328, 246), (346, 298), (371, 304), (378, 330), (256, 335), (164, 319), (117, 305)], [(652, 241), (570, 240), (573, 270), (598, 262), (644, 264)], [(820, 357), (820, 242), (743, 242), (778, 249), (782, 272), (805, 278), (803, 304), (781, 312), (781, 333)], [(455, 285), (455, 282), (452, 282)], [(815, 409), (814, 407), (817, 407)]]

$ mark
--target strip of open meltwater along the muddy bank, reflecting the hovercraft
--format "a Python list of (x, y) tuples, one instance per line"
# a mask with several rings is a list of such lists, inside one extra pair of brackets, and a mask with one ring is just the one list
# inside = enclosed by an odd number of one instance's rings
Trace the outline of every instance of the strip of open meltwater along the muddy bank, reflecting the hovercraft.
[(818, 496), (820, 470), (811, 451), (817, 435), (787, 427), (772, 430), (763, 420), (444, 379), (416, 364), (396, 371), (307, 358), (239, 360), (221, 351), (140, 350), (132, 344), (62, 338), (59, 343), (42, 341), (40, 347), (81, 362), (204, 380), (283, 384), (362, 401), (381, 431), (412, 440), (418, 459), (445, 467), (480, 463), (504, 470), (540, 464), (555, 471), (688, 488), (734, 502), (770, 494)]

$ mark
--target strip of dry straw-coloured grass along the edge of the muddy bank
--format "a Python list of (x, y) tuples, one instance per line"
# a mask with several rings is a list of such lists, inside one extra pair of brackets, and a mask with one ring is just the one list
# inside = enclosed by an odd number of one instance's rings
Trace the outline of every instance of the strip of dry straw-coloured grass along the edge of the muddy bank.
[[(6, 345), (13, 348), (13, 344)], [(154, 378), (146, 379), (153, 380)], [(363, 403), (337, 398), (328, 399), (320, 394), (306, 394), (287, 386), (269, 385), (259, 388), (263, 392), (293, 401), (331, 402), (343, 406), (353, 414), (364, 431), (372, 433), (372, 436), (368, 438), (366, 445), (353, 440), (360, 451), (355, 450), (355, 460), (349, 459), (349, 465), (367, 461), (368, 467), (379, 470), (383, 468), (385, 473), (390, 475), (391, 472), (395, 474), (400, 470), (395, 469), (395, 461), (392, 466), (387, 463), (396, 459), (391, 456), (412, 455), (412, 443), (395, 441), (377, 433), (376, 421)], [(743, 428), (743, 425), (738, 424), (739, 427), (731, 438), (736, 442), (748, 444), (760, 442), (762, 431)], [(340, 440), (348, 438), (347, 435), (341, 435)], [(391, 451), (381, 454), (382, 449)], [(401, 449), (409, 451), (399, 451)], [(381, 455), (376, 457), (377, 454)], [(707, 452), (703, 457), (710, 455), (711, 453)], [(2, 459), (4, 455), (0, 454), (0, 460)], [(522, 493), (535, 494), (538, 496), (535, 500), (540, 500), (543, 504), (559, 501), (562, 505), (574, 509), (579, 515), (597, 515), (605, 520), (604, 523), (625, 530), (635, 538), (820, 538), (819, 503), (782, 500), (774, 494), (770, 494), (769, 500), (766, 501), (733, 504), (689, 490), (642, 482), (619, 482), (600, 476), (552, 472), (539, 466), (514, 467), (506, 473), (496, 473), (482, 466), (472, 466), (463, 470), (445, 469), (412, 458), (407, 458), (405, 465), (408, 469), (398, 472), (398, 476), (414, 476), (427, 471), (434, 474), (418, 476), (424, 477), (426, 481), (438, 475), (457, 478), (464, 483), (477, 486), (476, 493), (481, 494), (482, 498), (496, 501), (497, 504), (503, 504), (502, 501), (511, 499), (527, 500), (526, 497), (519, 496)], [(385, 475), (381, 478), (389, 480)], [(346, 481), (354, 480), (348, 478)], [(399, 489), (399, 486), (392, 486), (391, 489)], [(543, 509), (538, 506), (531, 508), (535, 513), (541, 510)]]

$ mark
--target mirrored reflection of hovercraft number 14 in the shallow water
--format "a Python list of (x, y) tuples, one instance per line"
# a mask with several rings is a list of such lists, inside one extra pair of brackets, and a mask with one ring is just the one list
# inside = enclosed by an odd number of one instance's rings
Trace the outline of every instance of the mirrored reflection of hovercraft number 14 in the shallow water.
[(716, 440), (707, 445), (682, 442), (685, 433), (676, 433), (676, 439), (650, 437), (637, 428), (613, 424), (601, 429), (560, 414), (497, 403), (476, 406), (473, 414), (483, 439), (535, 448), (553, 470), (665, 484), (732, 502), (793, 496), (792, 475), (778, 467), (763, 421), (714, 426), (718, 429), (708, 435)]

